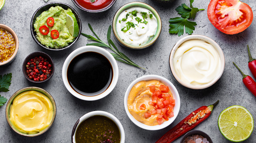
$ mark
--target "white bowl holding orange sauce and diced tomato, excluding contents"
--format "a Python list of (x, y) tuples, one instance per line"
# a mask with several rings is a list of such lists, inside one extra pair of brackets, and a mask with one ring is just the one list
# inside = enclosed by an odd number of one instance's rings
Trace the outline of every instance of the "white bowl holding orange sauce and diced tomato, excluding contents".
[[(143, 81), (143, 80), (145, 80), (145, 81), (149, 81), (149, 80), (161, 81), (163, 84), (165, 84), (166, 86), (169, 87), (170, 91), (172, 92), (173, 99), (175, 99), (175, 106), (173, 108), (174, 117), (169, 118), (168, 121), (164, 121), (161, 125), (156, 125), (156, 126), (145, 125), (145, 124), (139, 122), (138, 120), (136, 120), (128, 110), (127, 100), (128, 100), (129, 93), (130, 93), (132, 87), (136, 83), (138, 83), (139, 81)], [(124, 108), (125, 108), (126, 114), (128, 115), (128, 117), (131, 119), (131, 121), (134, 124), (136, 124), (140, 128), (146, 129), (146, 130), (160, 130), (160, 129), (165, 128), (168, 125), (170, 125), (178, 116), (178, 113), (180, 111), (180, 106), (181, 106), (180, 95), (179, 95), (176, 87), (168, 79), (161, 77), (159, 75), (144, 75), (144, 76), (137, 78), (129, 85), (129, 87), (127, 88), (125, 95), (124, 95)]]

